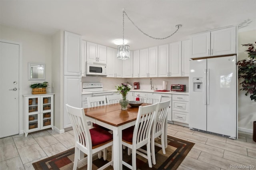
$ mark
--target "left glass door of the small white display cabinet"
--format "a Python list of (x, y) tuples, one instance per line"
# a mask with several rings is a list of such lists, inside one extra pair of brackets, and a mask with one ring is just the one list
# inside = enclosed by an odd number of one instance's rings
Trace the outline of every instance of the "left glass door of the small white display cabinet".
[(38, 96), (29, 97), (28, 99), (28, 131), (36, 130), (40, 128), (40, 108), (38, 108), (38, 102), (40, 98)]

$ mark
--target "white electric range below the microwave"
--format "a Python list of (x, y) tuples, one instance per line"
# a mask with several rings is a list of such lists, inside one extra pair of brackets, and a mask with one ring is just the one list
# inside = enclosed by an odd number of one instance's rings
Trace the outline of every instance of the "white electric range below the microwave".
[(87, 97), (113, 95), (110, 90), (103, 90), (102, 83), (83, 83), (82, 107), (88, 108)]

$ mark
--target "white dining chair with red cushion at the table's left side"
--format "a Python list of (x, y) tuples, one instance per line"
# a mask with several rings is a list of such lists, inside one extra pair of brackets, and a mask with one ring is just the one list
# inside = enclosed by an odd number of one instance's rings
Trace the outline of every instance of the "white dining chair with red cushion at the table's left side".
[[(112, 147), (113, 152), (113, 135), (102, 128), (89, 129), (83, 108), (76, 108), (66, 104), (66, 110), (70, 117), (75, 136), (73, 170), (76, 170), (78, 160), (80, 160), (80, 151), (84, 152), (87, 157), (83, 158), (79, 162), (84, 162), (84, 160), (87, 161), (87, 170), (91, 170), (92, 156), (101, 150), (106, 150), (109, 146)], [(106, 160), (106, 152), (104, 153), (104, 160)], [(113, 165), (113, 155), (111, 161), (99, 169), (102, 170), (110, 165)]]

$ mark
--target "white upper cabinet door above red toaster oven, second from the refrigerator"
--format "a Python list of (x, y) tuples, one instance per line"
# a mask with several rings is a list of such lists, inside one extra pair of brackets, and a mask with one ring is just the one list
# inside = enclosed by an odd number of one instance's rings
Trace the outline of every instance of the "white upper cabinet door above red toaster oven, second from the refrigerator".
[(169, 77), (181, 77), (181, 42), (169, 44)]

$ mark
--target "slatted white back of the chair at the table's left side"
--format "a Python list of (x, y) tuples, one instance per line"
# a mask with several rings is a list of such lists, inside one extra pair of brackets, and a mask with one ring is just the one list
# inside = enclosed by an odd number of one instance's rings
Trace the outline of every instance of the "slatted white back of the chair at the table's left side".
[[(75, 108), (66, 104), (66, 109), (72, 123), (76, 143), (79, 143), (87, 149), (92, 148), (92, 140), (87, 125), (83, 108)], [(89, 136), (89, 137), (88, 137)]]

